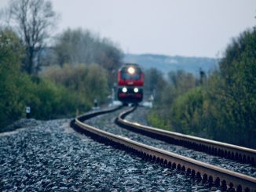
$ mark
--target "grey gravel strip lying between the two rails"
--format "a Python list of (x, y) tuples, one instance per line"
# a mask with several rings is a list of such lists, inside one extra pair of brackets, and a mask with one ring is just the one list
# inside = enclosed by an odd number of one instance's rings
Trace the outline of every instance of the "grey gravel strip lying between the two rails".
[[(188, 158), (193, 158), (193, 159), (203, 161), (211, 165), (216, 165), (221, 168), (226, 168), (235, 172), (240, 172), (247, 176), (256, 177), (256, 168), (250, 164), (242, 164), (237, 161), (232, 161), (225, 158), (219, 158), (217, 156), (213, 156), (200, 151), (188, 149), (186, 147), (181, 147), (181, 146), (173, 145), (170, 143), (166, 143), (158, 139), (152, 139), (151, 137), (143, 136), (141, 134), (131, 132), (129, 130), (119, 127), (118, 125), (115, 125), (114, 123), (115, 118), (123, 110), (127, 110), (127, 109), (128, 107), (123, 108), (122, 110), (118, 110), (112, 114), (104, 114), (96, 118), (92, 118), (86, 121), (86, 123), (88, 123), (89, 125), (95, 125), (99, 129), (103, 129), (104, 131), (107, 131), (107, 132), (112, 132), (116, 135), (126, 136), (137, 142), (144, 143), (152, 147), (158, 147), (160, 149), (168, 150), (176, 154), (181, 154)], [(126, 116), (126, 120), (136, 121), (141, 123), (142, 125), (147, 125), (147, 121), (145, 121), (146, 119), (145, 116), (147, 113), (148, 113), (147, 108), (137, 107), (137, 110), (133, 111), (133, 113)]]

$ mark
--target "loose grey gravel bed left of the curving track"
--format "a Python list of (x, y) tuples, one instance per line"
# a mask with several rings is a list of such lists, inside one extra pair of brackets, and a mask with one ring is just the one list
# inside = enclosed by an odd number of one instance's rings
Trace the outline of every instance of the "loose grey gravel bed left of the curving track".
[(33, 120), (0, 134), (0, 191), (210, 191), (181, 172), (97, 143), (69, 121)]

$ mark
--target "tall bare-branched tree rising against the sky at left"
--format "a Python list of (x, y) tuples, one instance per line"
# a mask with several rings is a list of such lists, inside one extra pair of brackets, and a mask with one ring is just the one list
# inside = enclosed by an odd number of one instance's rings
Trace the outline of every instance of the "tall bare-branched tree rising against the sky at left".
[(52, 4), (45, 0), (12, 0), (5, 10), (10, 27), (20, 35), (25, 45), (22, 69), (37, 73), (42, 66), (49, 31), (57, 21)]

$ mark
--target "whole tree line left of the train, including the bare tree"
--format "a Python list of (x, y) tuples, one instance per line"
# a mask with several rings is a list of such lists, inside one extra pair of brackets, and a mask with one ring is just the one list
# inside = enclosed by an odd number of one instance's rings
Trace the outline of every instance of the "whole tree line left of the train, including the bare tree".
[(121, 49), (82, 29), (62, 31), (53, 41), (57, 17), (46, 0), (12, 0), (2, 10), (0, 132), (24, 118), (26, 106), (31, 118), (75, 116), (110, 94)]

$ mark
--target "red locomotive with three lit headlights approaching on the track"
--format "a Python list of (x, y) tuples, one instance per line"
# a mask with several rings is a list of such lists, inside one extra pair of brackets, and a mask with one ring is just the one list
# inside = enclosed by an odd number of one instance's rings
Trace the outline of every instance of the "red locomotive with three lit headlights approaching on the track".
[(117, 75), (117, 98), (127, 105), (143, 100), (144, 73), (137, 63), (125, 63)]

